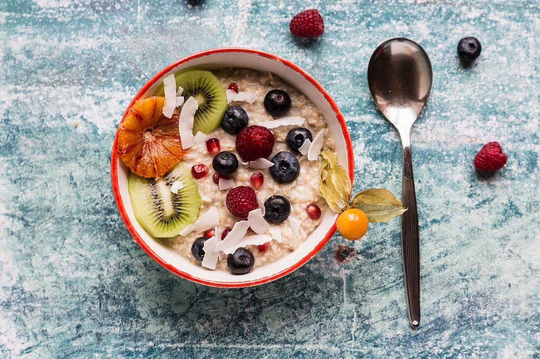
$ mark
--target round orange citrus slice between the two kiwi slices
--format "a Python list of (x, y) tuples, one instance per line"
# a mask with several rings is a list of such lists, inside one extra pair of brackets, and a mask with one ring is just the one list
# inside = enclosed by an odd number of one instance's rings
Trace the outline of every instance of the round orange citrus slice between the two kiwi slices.
[(158, 178), (177, 164), (182, 149), (178, 114), (166, 118), (164, 97), (154, 96), (133, 103), (118, 134), (118, 155), (130, 170), (141, 177)]

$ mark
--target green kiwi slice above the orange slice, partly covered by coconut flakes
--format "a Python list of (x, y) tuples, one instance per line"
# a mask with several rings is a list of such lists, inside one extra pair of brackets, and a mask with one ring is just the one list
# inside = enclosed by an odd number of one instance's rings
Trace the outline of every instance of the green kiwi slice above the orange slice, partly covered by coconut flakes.
[[(193, 134), (211, 133), (221, 123), (229, 107), (225, 88), (210, 71), (190, 70), (174, 75), (176, 85), (184, 89), (182, 96), (187, 100), (192, 97), (199, 103), (193, 122)], [(178, 90), (178, 87), (177, 87)], [(159, 86), (154, 96), (165, 96), (163, 85)]]

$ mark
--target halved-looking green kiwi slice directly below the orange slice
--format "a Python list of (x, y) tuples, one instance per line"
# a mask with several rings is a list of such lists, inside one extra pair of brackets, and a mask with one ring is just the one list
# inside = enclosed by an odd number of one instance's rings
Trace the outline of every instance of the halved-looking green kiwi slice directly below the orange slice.
[[(171, 192), (174, 181), (184, 185)], [(137, 222), (156, 238), (178, 236), (199, 215), (201, 197), (190, 169), (179, 162), (159, 179), (131, 174), (127, 183)]]

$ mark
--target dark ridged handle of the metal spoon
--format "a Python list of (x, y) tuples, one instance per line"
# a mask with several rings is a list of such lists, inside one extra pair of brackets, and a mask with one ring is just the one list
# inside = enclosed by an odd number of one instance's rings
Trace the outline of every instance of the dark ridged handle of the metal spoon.
[(409, 312), (410, 326), (420, 325), (420, 248), (418, 211), (414, 190), (413, 160), (410, 146), (403, 147), (403, 206), (407, 211), (401, 216), (401, 248), (403, 252), (403, 279)]

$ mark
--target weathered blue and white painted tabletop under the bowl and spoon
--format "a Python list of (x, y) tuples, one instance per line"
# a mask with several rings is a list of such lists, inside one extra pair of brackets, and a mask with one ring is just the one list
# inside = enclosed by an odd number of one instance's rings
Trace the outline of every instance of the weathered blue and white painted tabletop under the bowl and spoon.
[[(319, 8), (325, 34), (291, 37)], [(539, 5), (523, 1), (4, 0), (0, 3), (0, 357), (501, 357), (540, 352)], [(535, 37), (536, 32), (536, 37)], [(482, 42), (463, 68), (456, 45)], [(413, 129), (422, 324), (408, 328), (400, 223), (374, 224), (348, 264), (336, 236), (261, 287), (174, 277), (114, 205), (117, 123), (154, 73), (211, 47), (256, 47), (318, 78), (347, 119), (355, 190), (401, 191), (397, 134), (367, 88), (383, 40), (419, 42), (434, 71)], [(478, 176), (499, 141), (507, 166)]]

